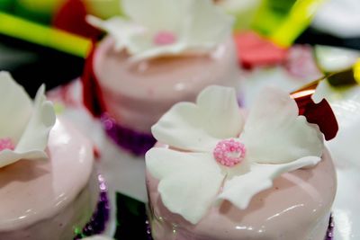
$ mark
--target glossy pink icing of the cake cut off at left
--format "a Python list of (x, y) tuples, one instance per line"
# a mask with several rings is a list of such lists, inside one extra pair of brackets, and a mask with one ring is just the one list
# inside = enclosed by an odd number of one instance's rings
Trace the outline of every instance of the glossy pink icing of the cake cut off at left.
[(89, 141), (57, 120), (47, 153), (0, 168), (0, 239), (68, 240), (91, 218), (99, 193)]

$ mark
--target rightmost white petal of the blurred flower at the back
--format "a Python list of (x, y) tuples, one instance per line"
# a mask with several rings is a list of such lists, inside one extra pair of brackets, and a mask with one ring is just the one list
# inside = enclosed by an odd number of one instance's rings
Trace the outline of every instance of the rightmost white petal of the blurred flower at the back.
[(229, 38), (234, 19), (224, 13), (218, 6), (214, 6), (211, 1), (197, 0), (192, 1), (192, 13), (189, 24), (189, 44), (195, 48), (211, 49), (216, 47), (221, 41)]

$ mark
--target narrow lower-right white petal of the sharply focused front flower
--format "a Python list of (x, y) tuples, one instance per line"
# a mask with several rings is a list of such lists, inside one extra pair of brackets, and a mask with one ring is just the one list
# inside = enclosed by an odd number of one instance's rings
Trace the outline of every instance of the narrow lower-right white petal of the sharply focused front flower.
[(320, 162), (318, 156), (305, 156), (288, 164), (251, 164), (251, 171), (225, 181), (218, 200), (229, 200), (238, 209), (246, 209), (258, 192), (273, 185), (273, 180), (282, 173), (292, 172)]

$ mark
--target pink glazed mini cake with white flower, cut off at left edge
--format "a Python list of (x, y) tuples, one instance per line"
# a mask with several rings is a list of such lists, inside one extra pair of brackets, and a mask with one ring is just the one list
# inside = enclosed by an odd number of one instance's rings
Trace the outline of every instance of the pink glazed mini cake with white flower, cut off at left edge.
[(0, 85), (0, 239), (69, 240), (103, 231), (107, 197), (90, 142), (56, 120), (43, 86), (31, 102), (9, 74), (0, 72)]

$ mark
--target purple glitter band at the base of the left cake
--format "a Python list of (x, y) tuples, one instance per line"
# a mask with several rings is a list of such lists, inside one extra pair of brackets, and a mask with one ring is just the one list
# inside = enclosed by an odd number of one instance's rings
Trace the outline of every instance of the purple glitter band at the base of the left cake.
[(103, 233), (106, 223), (109, 220), (110, 203), (107, 197), (107, 186), (103, 179), (103, 175), (99, 174), (97, 179), (100, 188), (100, 198), (97, 202), (97, 208), (90, 218), (90, 221), (85, 225), (81, 233), (76, 234), (74, 240)]

